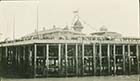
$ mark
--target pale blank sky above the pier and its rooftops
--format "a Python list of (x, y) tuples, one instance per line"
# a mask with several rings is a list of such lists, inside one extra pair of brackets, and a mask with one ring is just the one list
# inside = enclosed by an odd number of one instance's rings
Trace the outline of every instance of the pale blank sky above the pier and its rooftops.
[(109, 31), (121, 33), (123, 36), (139, 36), (138, 0), (23, 0), (0, 2), (1, 39), (13, 39), (15, 22), (15, 38), (27, 35), (37, 28), (42, 30), (66, 25), (71, 28), (74, 13), (78, 10), (84, 20), (84, 33), (96, 32), (102, 25)]

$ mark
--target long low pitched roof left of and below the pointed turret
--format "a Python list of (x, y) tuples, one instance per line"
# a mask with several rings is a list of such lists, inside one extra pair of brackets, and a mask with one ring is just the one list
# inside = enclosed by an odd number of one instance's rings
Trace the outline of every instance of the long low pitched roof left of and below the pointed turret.
[(58, 37), (75, 37), (75, 36), (84, 36), (85, 34), (77, 31), (73, 31), (71, 29), (68, 29), (68, 27), (65, 28), (52, 28), (48, 30), (42, 30), (38, 32), (33, 32), (31, 34), (28, 34), (22, 39), (34, 39), (39, 36), (39, 38), (58, 38)]

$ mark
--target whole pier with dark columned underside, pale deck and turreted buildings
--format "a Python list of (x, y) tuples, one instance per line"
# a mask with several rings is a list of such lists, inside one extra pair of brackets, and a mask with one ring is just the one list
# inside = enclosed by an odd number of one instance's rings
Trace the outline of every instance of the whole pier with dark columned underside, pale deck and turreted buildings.
[(68, 27), (33, 32), (0, 42), (0, 73), (6, 77), (131, 75), (140, 71), (140, 38), (102, 27), (83, 34), (79, 20)]

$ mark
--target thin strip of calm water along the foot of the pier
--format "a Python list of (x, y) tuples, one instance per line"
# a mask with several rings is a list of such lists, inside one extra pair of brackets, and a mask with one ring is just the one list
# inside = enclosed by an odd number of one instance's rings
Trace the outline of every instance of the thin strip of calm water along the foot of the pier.
[(140, 75), (93, 76), (68, 78), (2, 79), (2, 81), (140, 81)]

